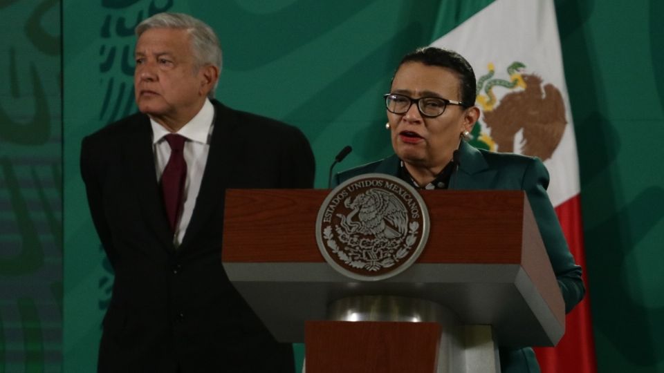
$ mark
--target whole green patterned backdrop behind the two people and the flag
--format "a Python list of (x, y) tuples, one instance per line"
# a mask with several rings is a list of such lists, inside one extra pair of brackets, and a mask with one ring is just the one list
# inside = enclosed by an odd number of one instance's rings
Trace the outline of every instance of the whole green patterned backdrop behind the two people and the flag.
[[(389, 154), (380, 95), (398, 58), (486, 3), (0, 0), (0, 373), (94, 370), (113, 276), (77, 158), (84, 135), (134, 110), (137, 21), (171, 10), (210, 23), (218, 97), (302, 128), (325, 187), (344, 145), (338, 169)], [(664, 372), (664, 2), (555, 3), (598, 367)]]

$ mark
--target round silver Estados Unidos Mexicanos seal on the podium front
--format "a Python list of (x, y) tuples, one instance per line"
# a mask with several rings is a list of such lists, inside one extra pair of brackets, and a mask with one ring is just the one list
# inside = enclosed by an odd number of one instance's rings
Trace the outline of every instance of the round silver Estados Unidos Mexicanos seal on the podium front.
[(421, 195), (391, 175), (346, 180), (322, 203), (316, 240), (325, 260), (344, 276), (382, 280), (412, 265), (429, 236)]

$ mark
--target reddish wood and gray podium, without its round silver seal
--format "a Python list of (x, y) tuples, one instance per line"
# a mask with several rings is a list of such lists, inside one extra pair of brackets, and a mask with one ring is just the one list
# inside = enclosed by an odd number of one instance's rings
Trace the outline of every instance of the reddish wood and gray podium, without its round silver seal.
[(564, 301), (523, 191), (420, 191), (416, 262), (380, 281), (331, 268), (315, 221), (329, 190), (228, 189), (223, 267), (306, 372), (499, 372), (497, 346), (553, 346)]

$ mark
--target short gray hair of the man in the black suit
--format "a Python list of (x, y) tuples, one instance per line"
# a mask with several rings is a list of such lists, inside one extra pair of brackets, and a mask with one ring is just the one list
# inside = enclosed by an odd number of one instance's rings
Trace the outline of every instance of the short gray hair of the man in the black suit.
[[(143, 32), (151, 28), (187, 30), (191, 36), (190, 46), (194, 53), (194, 68), (199, 70), (205, 65), (213, 65), (219, 68), (219, 73), (221, 73), (221, 46), (214, 30), (207, 23), (184, 13), (158, 13), (138, 23), (135, 30), (136, 37), (140, 37)], [(217, 83), (219, 83), (219, 79), (217, 79)], [(214, 97), (215, 89), (216, 83), (208, 93), (208, 97)]]

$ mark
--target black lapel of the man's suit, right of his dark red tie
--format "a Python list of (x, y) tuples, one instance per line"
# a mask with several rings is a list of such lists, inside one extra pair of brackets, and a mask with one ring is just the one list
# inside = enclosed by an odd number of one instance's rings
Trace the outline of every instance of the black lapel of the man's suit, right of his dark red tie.
[[(196, 237), (196, 233), (205, 227), (210, 214), (219, 207), (219, 200), (225, 198), (225, 188), (228, 186), (230, 175), (230, 160), (232, 160), (232, 131), (239, 123), (234, 113), (221, 103), (212, 100), (214, 104), (214, 129), (210, 140), (210, 152), (205, 162), (201, 189), (196, 197), (192, 220), (187, 227), (180, 250), (185, 251), (187, 245)], [(219, 227), (221, 229), (221, 227)]]

